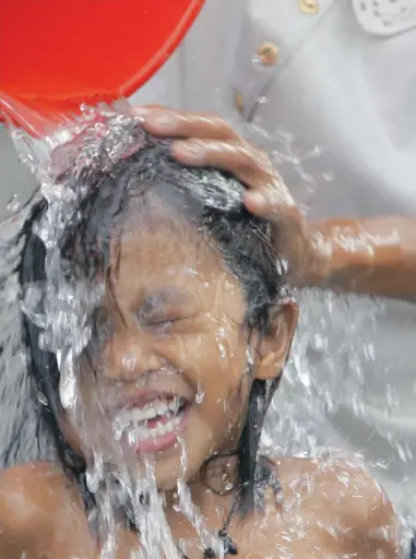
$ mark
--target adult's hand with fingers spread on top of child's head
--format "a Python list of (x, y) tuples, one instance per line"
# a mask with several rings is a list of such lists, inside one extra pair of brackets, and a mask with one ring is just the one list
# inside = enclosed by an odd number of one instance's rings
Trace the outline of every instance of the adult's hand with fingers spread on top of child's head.
[(134, 107), (144, 128), (173, 138), (173, 155), (185, 165), (216, 167), (235, 175), (246, 187), (245, 204), (273, 226), (273, 243), (287, 261), (293, 284), (310, 283), (318, 260), (308, 223), (297, 209), (269, 156), (213, 115), (176, 111), (159, 106)]

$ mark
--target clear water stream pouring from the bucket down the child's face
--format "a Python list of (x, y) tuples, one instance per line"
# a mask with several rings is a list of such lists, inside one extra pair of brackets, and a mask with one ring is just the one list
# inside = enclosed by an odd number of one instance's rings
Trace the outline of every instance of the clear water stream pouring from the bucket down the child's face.
[[(114, 112), (111, 115), (114, 116)], [(96, 118), (97, 116), (102, 119), (108, 117), (108, 114), (88, 111), (86, 121), (88, 122), (90, 118), (94, 120), (94, 117)], [(123, 127), (122, 116), (114, 118), (116, 119), (115, 128), (117, 128), (117, 119), (120, 120), (120, 126)], [(103, 543), (102, 559), (111, 559), (117, 556), (117, 511), (120, 507), (130, 511), (131, 522), (136, 526), (138, 533), (140, 533), (141, 551), (134, 557), (152, 557), (154, 559), (171, 557), (173, 559), (179, 559), (177, 547), (170, 536), (164, 514), (163, 499), (156, 489), (152, 464), (146, 464), (146, 475), (143, 478), (138, 478), (132, 473), (134, 459), (131, 455), (127, 455), (126, 449), (117, 444), (111, 436), (111, 426), (99, 402), (97, 392), (94, 392), (94, 413), (87, 413), (87, 406), (84, 405), (83, 394), (79, 385), (80, 371), (75, 364), (91, 338), (91, 318), (97, 302), (102, 298), (103, 286), (98, 285), (92, 288), (85, 284), (73, 285), (64, 278), (60, 242), (69, 224), (76, 224), (76, 212), (82, 203), (83, 195), (85, 195), (85, 189), (83, 189), (81, 180), (76, 185), (66, 183), (62, 187), (62, 185), (58, 185), (55, 181), (55, 177), (60, 173), (59, 166), (61, 165), (66, 167), (73, 164), (75, 167), (76, 165), (81, 167), (82, 164), (87, 162), (94, 164), (94, 160), (95, 165), (103, 165), (103, 160), (97, 160), (98, 153), (94, 152), (93, 139), (99, 138), (100, 132), (106, 130), (104, 127), (102, 128), (100, 122), (94, 127), (93, 131), (90, 129), (93, 138), (87, 136), (84, 141), (91, 151), (83, 154), (85, 157), (84, 162), (76, 162), (76, 164), (71, 157), (76, 153), (78, 145), (73, 146), (70, 143), (52, 160), (51, 165), (46, 165), (45, 160), (47, 159), (43, 159), (37, 151), (27, 144), (27, 138), (23, 138), (20, 132), (14, 135), (23, 160), (36, 174), (40, 183), (41, 195), (48, 202), (48, 210), (45, 212), (44, 218), (35, 231), (46, 247), (45, 267), (47, 282), (41, 285), (31, 285), (22, 294), (21, 308), (27, 318), (43, 330), (40, 337), (43, 348), (55, 353), (57, 356), (60, 370), (61, 404), (67, 413), (70, 414), (70, 417), (72, 417), (76, 431), (83, 433), (85, 447), (91, 449), (91, 457), (86, 469), (86, 486), (94, 495), (96, 509), (91, 514), (90, 521), (95, 525), (95, 530), (98, 531), (100, 542)], [(79, 127), (73, 128), (73, 135), (76, 136), (80, 131)], [(123, 141), (123, 135), (116, 132), (115, 138), (117, 136), (119, 138), (119, 143), (115, 143), (111, 139), (108, 144), (111, 146), (111, 150), (106, 152), (109, 164), (120, 158), (127, 151), (135, 150), (138, 142), (140, 142), (140, 138), (133, 136), (127, 136), (126, 141)], [(46, 151), (57, 150), (59, 143), (59, 139), (52, 139)], [(27, 213), (28, 209), (20, 216), (19, 224), (16, 223), (16, 230), (19, 230), (19, 226), (21, 226)], [(9, 228), (11, 225), (10, 222), (4, 224), (3, 229)], [(12, 228), (14, 229), (14, 227)], [(16, 249), (19, 248), (16, 247)], [(14, 255), (7, 242), (3, 250), (4, 260)], [(16, 296), (17, 289), (16, 287), (13, 288), (14, 296)], [(3, 298), (12, 297), (8, 282), (4, 282), (2, 293)], [(7, 305), (2, 307), (8, 320), (11, 317), (9, 307)], [(12, 355), (13, 344), (4, 343), (4, 347), (8, 348), (7, 355), (13, 357), (12, 359), (10, 358), (9, 364), (15, 365), (16, 361), (22, 361), (22, 369), (25, 357)], [(134, 367), (131, 356), (126, 357), (126, 365), (129, 368)], [(8, 376), (4, 374), (3, 377), (7, 378)], [(24, 385), (22, 386), (23, 389), (25, 389)], [(4, 392), (7, 386), (4, 386)], [(27, 389), (25, 392), (27, 396)], [(39, 417), (36, 420), (29, 419), (29, 423), (33, 424), (33, 430), (36, 431), (38, 429), (39, 421)], [(11, 439), (11, 433), (7, 433), (5, 438)], [(47, 448), (44, 449), (44, 452), (38, 452), (37, 456), (35, 451), (31, 452), (31, 445), (27, 444), (25, 439), (21, 441), (21, 444), (25, 445), (25, 449), (22, 449), (22, 453), (24, 453), (27, 461), (55, 456), (50, 440), (47, 440)], [(20, 453), (14, 453), (14, 460), (21, 460)], [(8, 460), (4, 460), (3, 463), (9, 465)], [(109, 463), (112, 464), (112, 468), (109, 467)], [(155, 530), (155, 527), (158, 530)]]

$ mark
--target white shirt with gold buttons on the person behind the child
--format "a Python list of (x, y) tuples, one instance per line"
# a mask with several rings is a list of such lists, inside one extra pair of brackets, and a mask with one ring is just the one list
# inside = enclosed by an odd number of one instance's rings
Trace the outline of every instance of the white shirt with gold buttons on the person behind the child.
[[(416, 214), (416, 0), (207, 0), (133, 100), (221, 112), (269, 148), (311, 216)], [(301, 298), (278, 442), (305, 450), (318, 430), (364, 451), (416, 518), (416, 307)]]

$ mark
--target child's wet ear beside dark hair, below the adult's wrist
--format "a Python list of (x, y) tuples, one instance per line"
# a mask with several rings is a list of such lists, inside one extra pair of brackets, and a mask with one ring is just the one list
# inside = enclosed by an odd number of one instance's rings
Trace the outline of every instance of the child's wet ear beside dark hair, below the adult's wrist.
[(298, 307), (292, 300), (276, 310), (268, 335), (260, 343), (257, 379), (275, 379), (282, 373), (289, 355), (297, 320)]

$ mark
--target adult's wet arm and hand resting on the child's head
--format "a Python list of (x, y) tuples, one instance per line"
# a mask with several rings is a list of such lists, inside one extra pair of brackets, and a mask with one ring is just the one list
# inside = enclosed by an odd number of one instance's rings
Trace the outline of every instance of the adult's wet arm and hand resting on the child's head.
[(163, 107), (136, 107), (145, 128), (176, 139), (173, 155), (190, 166), (213, 166), (246, 186), (247, 209), (265, 217), (297, 287), (328, 287), (412, 300), (416, 295), (416, 217), (310, 222), (298, 211), (268, 155), (218, 117)]

